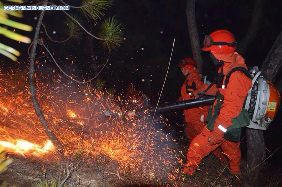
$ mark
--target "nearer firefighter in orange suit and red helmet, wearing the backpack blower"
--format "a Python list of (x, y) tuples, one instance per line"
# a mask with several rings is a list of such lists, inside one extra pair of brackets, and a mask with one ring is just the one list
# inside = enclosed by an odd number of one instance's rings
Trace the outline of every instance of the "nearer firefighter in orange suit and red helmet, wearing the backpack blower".
[[(201, 159), (220, 146), (230, 159), (230, 172), (240, 174), (239, 139), (242, 127), (247, 126), (249, 120), (248, 111), (246, 114), (243, 109), (243, 102), (252, 87), (252, 81), (246, 73), (243, 57), (235, 52), (236, 41), (232, 33), (216, 30), (205, 36), (203, 45), (202, 50), (210, 51), (213, 63), (219, 66), (217, 84), (211, 89), (215, 90), (215, 86), (217, 87), (217, 99), (212, 106), (212, 117), (207, 119), (208, 124), (189, 146), (187, 164), (183, 171), (192, 175), (195, 168), (199, 167)], [(207, 86), (204, 85), (195, 93), (205, 90), (205, 87)], [(241, 121), (237, 122), (235, 119)]]

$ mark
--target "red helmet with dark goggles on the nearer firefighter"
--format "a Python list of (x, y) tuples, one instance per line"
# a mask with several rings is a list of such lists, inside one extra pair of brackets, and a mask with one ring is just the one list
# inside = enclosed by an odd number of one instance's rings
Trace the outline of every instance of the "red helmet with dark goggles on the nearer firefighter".
[(202, 50), (224, 55), (235, 51), (236, 44), (237, 42), (231, 32), (216, 30), (209, 35), (205, 35)]

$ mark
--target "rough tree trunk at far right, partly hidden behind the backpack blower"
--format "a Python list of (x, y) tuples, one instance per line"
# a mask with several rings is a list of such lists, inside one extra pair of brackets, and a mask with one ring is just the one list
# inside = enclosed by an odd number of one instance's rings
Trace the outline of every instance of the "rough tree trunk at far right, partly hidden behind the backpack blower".
[[(274, 45), (270, 49), (264, 64), (261, 68), (264, 77), (272, 81), (275, 75), (278, 73), (282, 65), (282, 31), (278, 35), (274, 42)], [(265, 143), (263, 131), (253, 130), (247, 128), (247, 163), (248, 168), (252, 169), (259, 163), (261, 163), (266, 157)], [(256, 181), (259, 177), (260, 167), (254, 169), (252, 172), (253, 181)]]

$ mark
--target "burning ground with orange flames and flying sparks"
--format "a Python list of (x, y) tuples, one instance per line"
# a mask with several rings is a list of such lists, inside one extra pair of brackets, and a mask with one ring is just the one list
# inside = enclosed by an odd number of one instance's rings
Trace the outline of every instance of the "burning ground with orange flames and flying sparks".
[[(27, 78), (14, 79), (12, 70), (0, 75), (0, 146), (24, 157), (55, 155), (55, 148), (34, 112)], [(120, 96), (98, 92), (89, 85), (76, 88), (73, 85), (63, 83), (55, 75), (51, 81), (36, 82), (40, 88), (37, 91), (40, 107), (50, 129), (64, 146), (65, 156), (75, 158), (80, 152), (81, 159), (91, 164), (103, 155), (119, 163), (115, 170), (120, 174), (130, 171), (135, 177), (142, 175), (156, 183), (177, 178), (177, 160), (182, 156), (175, 151), (176, 140), (162, 132), (165, 122), (154, 124), (142, 158), (150, 115), (134, 119), (124, 115), (138, 102), (128, 105), (130, 101)], [(113, 115), (106, 117), (103, 110)]]

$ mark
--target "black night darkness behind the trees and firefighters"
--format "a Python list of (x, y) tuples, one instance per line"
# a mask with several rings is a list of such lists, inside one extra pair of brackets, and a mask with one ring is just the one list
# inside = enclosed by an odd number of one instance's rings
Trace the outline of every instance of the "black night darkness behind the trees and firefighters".
[[(59, 1), (56, 1), (58, 3)], [(80, 1), (65, 1), (66, 3), (79, 6)], [(216, 29), (227, 29), (235, 36), (235, 39), (240, 43), (243, 36), (248, 30), (251, 22), (252, 10), (254, 1), (225, 1), (225, 0), (200, 0), (196, 2), (196, 22), (200, 42), (204, 39), (204, 34), (209, 34)], [(120, 48), (112, 51), (110, 61), (107, 67), (101, 72), (99, 78), (106, 81), (106, 88), (115, 88), (116, 93), (122, 92), (127, 88), (129, 83), (134, 83), (137, 90), (142, 90), (151, 98), (150, 104), (156, 104), (159, 97), (163, 81), (165, 80), (166, 69), (168, 67), (170, 53), (172, 49), (173, 39), (175, 38), (175, 47), (171, 59), (170, 69), (165, 82), (161, 102), (172, 102), (180, 96), (180, 87), (184, 81), (177, 64), (180, 59), (192, 57), (190, 39), (186, 22), (186, 1), (166, 0), (166, 1), (149, 1), (149, 0), (123, 0), (116, 1), (112, 8), (105, 11), (103, 18), (114, 16), (124, 27), (123, 44)], [(258, 34), (249, 45), (245, 55), (243, 55), (247, 66), (261, 67), (270, 48), (272, 47), (277, 35), (282, 29), (282, 1), (269, 0), (265, 1), (263, 15)], [(81, 16), (83, 26), (89, 31), (90, 26), (96, 23), (81, 15), (77, 9), (70, 9), (70, 14)], [(23, 19), (19, 20), (23, 23), (32, 25), (35, 28), (37, 20), (34, 19), (39, 12), (30, 11), (24, 13)], [(67, 38), (61, 31), (64, 28), (62, 20), (65, 19), (65, 14), (60, 11), (52, 11), (46, 13), (43, 23), (47, 26), (49, 35), (53, 39), (63, 40)], [(97, 26), (93, 27), (94, 35), (98, 31), (102, 20), (97, 20)], [(41, 28), (40, 31), (44, 31)], [(55, 34), (52, 34), (56, 31)], [(33, 39), (33, 32), (21, 32), (29, 35)], [(76, 69), (77, 79), (82, 80), (82, 76), (92, 78), (95, 75), (93, 62), (91, 62), (90, 39), (83, 32), (82, 40), (67, 41), (63, 44), (51, 42), (44, 32), (40, 33), (49, 45), (49, 50), (55, 54), (55, 59), (60, 62), (60, 65), (67, 73)], [(1, 38), (2, 39), (2, 38)], [(18, 46), (21, 52), (19, 57), (20, 62), (27, 63), (27, 48), (28, 44), (18, 44), (8, 39), (4, 44)], [(93, 39), (94, 54), (97, 56), (96, 63), (102, 65), (106, 62), (109, 56), (107, 51), (104, 51), (100, 46), (100, 42)], [(144, 48), (144, 50), (142, 50)], [(37, 53), (40, 54), (40, 47)], [(69, 59), (65, 59), (68, 57)], [(215, 67), (209, 59), (208, 52), (203, 52), (204, 60), (203, 75), (207, 75), (210, 81), (214, 78)], [(39, 60), (47, 60), (47, 63), (41, 69), (36, 69), (43, 74), (48, 74), (50, 71), (47, 68), (55, 69), (58, 73), (58, 68), (55, 67), (50, 58), (42, 58)], [(74, 60), (74, 65), (71, 64)], [(24, 63), (18, 65), (11, 60), (1, 60), (1, 63), (8, 70), (9, 66), (20, 67), (25, 69)], [(61, 75), (61, 73), (60, 73)], [(43, 76), (43, 75), (42, 75)], [(46, 76), (46, 75), (45, 75)], [(63, 76), (64, 77), (64, 76)], [(67, 79), (66, 77), (63, 79)], [(145, 81), (142, 82), (142, 79)], [(281, 70), (274, 81), (274, 84), (281, 79)], [(95, 84), (93, 83), (93, 86)], [(174, 123), (182, 122), (181, 112), (166, 114), (170, 120), (170, 131), (177, 132), (178, 128), (173, 127)], [(274, 152), (282, 142), (282, 122), (281, 122), (281, 106), (280, 112), (268, 130), (264, 132), (266, 147), (270, 153)], [(243, 157), (246, 154), (245, 144), (242, 144)], [(268, 153), (269, 155), (269, 153)], [(267, 155), (267, 156), (268, 156)], [(278, 168), (281, 168), (282, 152), (275, 154), (271, 160)]]

